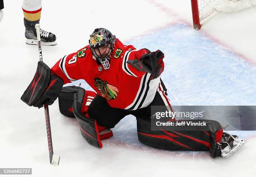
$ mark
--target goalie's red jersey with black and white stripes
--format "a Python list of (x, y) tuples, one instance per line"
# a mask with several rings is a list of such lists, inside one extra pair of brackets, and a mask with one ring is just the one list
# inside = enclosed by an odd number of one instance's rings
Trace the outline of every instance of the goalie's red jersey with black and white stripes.
[(61, 77), (64, 84), (84, 79), (111, 107), (136, 110), (148, 106), (157, 90), (165, 91), (160, 77), (150, 80), (150, 73), (138, 71), (126, 63), (145, 53), (145, 49), (136, 50), (117, 39), (109, 69), (105, 70), (97, 62), (88, 45), (61, 58), (51, 72)]

